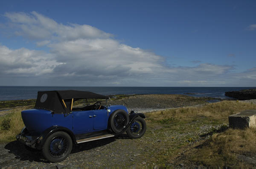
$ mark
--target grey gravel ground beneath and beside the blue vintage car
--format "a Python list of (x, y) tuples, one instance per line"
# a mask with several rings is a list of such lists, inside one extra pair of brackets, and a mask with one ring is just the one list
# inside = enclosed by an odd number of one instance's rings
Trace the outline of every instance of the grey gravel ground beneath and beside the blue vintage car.
[[(191, 127), (191, 126), (190, 126)], [(83, 144), (73, 145), (73, 150), (69, 157), (60, 163), (49, 163), (44, 159), (40, 151), (31, 152), (18, 141), (8, 144), (0, 144), (0, 167), (9, 168), (77, 168), (77, 167), (155, 167), (157, 161), (145, 159), (145, 153), (160, 151), (161, 149), (176, 149), (181, 142), (187, 142), (187, 136), (194, 135), (193, 142), (209, 138), (207, 133), (212, 128), (218, 129), (220, 126), (202, 126), (200, 131), (180, 133), (179, 130), (165, 132), (165, 139), (161, 140), (157, 134), (161, 132), (161, 127), (148, 129), (152, 136), (143, 136), (139, 139), (130, 139), (126, 134), (115, 138), (106, 138), (98, 141), (91, 141)], [(205, 134), (204, 137), (200, 135)], [(175, 138), (175, 139), (174, 139)], [(169, 143), (172, 144), (169, 144)], [(192, 144), (189, 143), (189, 144)], [(160, 149), (154, 148), (159, 147)], [(180, 154), (180, 153), (179, 153)], [(177, 155), (179, 155), (177, 154)], [(175, 166), (175, 164), (168, 164)], [(177, 165), (178, 166), (178, 165)]]

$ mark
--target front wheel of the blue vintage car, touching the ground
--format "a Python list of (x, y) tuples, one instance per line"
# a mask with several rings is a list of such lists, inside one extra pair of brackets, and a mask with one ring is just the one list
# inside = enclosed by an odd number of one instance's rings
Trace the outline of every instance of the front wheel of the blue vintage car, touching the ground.
[(131, 126), (126, 131), (126, 133), (131, 138), (141, 138), (145, 134), (146, 129), (147, 124), (145, 120), (141, 117), (137, 117), (131, 122)]

